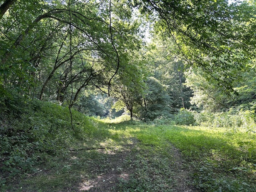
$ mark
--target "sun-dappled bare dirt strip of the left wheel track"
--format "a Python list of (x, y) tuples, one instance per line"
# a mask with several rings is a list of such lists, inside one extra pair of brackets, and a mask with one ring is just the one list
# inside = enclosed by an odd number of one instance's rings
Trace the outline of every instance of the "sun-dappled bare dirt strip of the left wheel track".
[[(128, 180), (130, 172), (123, 168), (126, 156), (130, 154), (131, 148), (136, 143), (135, 139), (126, 140), (126, 144), (118, 145), (118, 142), (110, 138), (100, 142), (100, 149), (96, 150), (98, 155), (104, 154), (104, 163), (94, 164), (89, 168), (89, 173), (81, 175), (79, 191), (113, 191), (114, 186), (120, 180)], [(73, 157), (74, 158), (74, 157)]]

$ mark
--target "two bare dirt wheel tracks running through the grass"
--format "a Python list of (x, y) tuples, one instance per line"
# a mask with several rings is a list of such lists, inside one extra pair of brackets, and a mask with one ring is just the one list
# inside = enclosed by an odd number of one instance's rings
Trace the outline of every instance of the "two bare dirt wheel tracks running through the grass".
[[(79, 186), (80, 192), (119, 192), (118, 182), (121, 179), (129, 180), (132, 169), (122, 169), (126, 157), (130, 155), (132, 148), (136, 147), (138, 141), (134, 140), (133, 144), (126, 145), (122, 150), (102, 150), (98, 152), (108, 153), (108, 160), (104, 163), (108, 164), (108, 168), (102, 170), (102, 173), (93, 179), (83, 178), (83, 182)], [(173, 180), (175, 185), (170, 188), (170, 192), (199, 192), (196, 188), (188, 184), (190, 178), (190, 170), (185, 168), (184, 161), (180, 151), (170, 144), (170, 154), (173, 156), (172, 162), (175, 162), (170, 169), (173, 172)], [(98, 172), (98, 170), (92, 170)], [(153, 180), (154, 178), (152, 178)], [(157, 192), (157, 191), (154, 191)], [(160, 191), (159, 191), (160, 192)]]

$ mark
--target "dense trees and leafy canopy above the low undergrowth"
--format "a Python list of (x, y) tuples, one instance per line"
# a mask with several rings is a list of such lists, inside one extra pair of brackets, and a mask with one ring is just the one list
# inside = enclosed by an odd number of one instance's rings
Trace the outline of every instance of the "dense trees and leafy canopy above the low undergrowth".
[(104, 93), (143, 120), (254, 106), (254, 2), (4, 1), (0, 19), (2, 95)]

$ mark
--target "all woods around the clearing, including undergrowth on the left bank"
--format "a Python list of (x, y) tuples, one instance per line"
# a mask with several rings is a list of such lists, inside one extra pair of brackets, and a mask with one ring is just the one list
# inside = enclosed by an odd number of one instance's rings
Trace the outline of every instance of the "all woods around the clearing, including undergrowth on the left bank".
[(255, 0), (0, 0), (0, 185), (96, 119), (255, 133), (255, 30)]

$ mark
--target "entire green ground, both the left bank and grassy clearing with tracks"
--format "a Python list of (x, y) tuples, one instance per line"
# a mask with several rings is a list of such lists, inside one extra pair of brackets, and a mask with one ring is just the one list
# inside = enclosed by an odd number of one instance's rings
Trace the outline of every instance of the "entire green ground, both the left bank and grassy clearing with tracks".
[(0, 191), (255, 192), (255, 133), (104, 122), (2, 98)]

